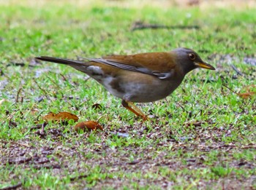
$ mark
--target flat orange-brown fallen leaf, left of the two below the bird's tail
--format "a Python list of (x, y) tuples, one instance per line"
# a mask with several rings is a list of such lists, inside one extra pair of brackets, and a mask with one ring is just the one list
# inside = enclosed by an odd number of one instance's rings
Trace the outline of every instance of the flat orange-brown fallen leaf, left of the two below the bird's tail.
[(46, 116), (43, 116), (42, 119), (46, 121), (63, 121), (63, 120), (71, 120), (73, 119), (75, 122), (78, 122), (78, 116), (74, 114), (70, 114), (69, 112), (59, 112), (58, 114), (54, 114), (50, 112)]

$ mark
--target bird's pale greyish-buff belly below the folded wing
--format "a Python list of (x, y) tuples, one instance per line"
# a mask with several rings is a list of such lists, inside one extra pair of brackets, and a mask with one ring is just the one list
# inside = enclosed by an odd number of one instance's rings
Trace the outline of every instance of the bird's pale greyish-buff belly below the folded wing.
[(108, 76), (101, 83), (111, 94), (118, 98), (143, 103), (167, 97), (181, 84), (181, 81), (182, 79), (176, 79), (175, 81), (162, 80), (145, 74), (138, 77), (137, 74), (136, 77), (130, 75), (129, 79)]

